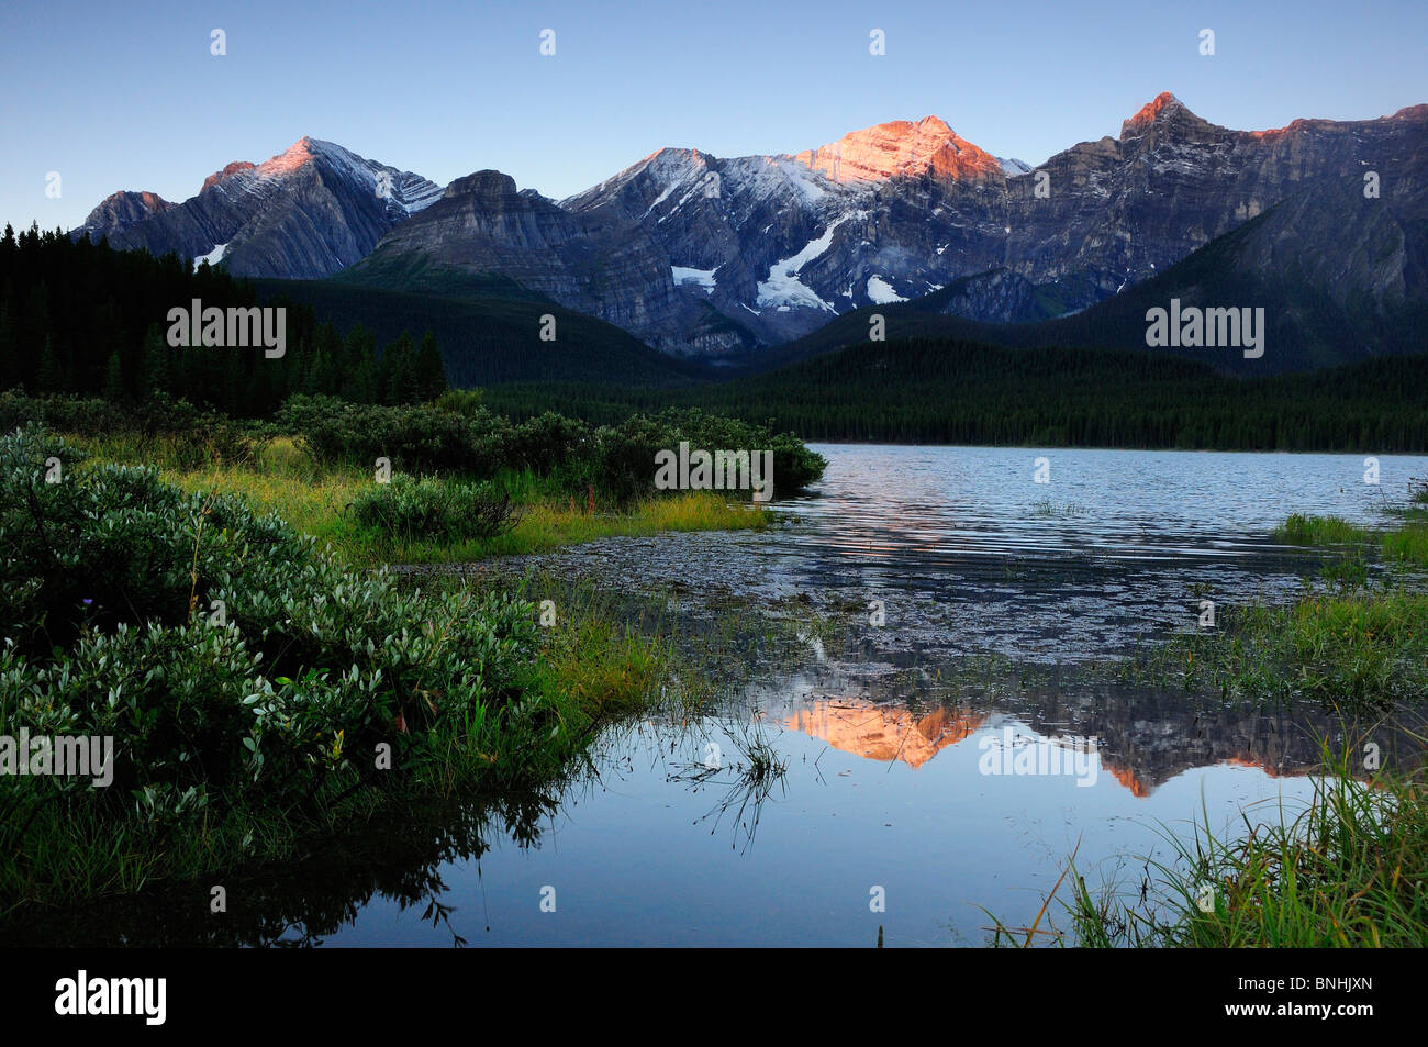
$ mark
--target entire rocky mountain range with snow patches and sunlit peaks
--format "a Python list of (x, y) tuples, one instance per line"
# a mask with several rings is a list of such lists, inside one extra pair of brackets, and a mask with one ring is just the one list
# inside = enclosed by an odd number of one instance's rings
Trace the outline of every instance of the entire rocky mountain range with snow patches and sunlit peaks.
[(661, 149), (558, 201), (496, 170), (441, 189), (304, 137), (183, 203), (116, 193), (74, 234), (411, 294), (488, 299), (500, 279), (664, 353), (738, 363), (865, 340), (883, 310), (920, 316), (918, 334), (942, 317), (1012, 344), (1144, 349), (1150, 289), (1275, 310), (1265, 366), (1294, 370), (1414, 347), (1425, 131), (1428, 106), (1228, 130), (1164, 93), (1118, 137), (1034, 169), (928, 116), (777, 156)]

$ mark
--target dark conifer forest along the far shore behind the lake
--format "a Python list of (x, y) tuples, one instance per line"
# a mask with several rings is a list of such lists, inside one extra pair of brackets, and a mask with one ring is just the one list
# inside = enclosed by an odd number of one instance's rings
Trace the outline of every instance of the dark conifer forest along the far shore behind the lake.
[(1428, 450), (1428, 357), (1224, 376), (1150, 353), (867, 343), (687, 390), (513, 384), (487, 403), (610, 423), (670, 404), (774, 421), (805, 440), (1222, 450)]

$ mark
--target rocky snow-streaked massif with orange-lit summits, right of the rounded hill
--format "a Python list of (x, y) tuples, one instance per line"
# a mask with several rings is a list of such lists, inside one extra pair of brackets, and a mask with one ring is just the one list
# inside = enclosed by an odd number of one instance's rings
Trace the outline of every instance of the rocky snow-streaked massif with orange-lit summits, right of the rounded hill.
[[(673, 266), (710, 274), (711, 304), (777, 343), (992, 269), (1084, 309), (1314, 181), (1417, 170), (1425, 131), (1424, 106), (1234, 131), (1161, 94), (1118, 139), (1081, 143), (1035, 170), (927, 117), (795, 156), (661, 150), (564, 206), (638, 223)], [(982, 320), (1028, 311), (1025, 296), (1010, 296), (1005, 314), (968, 303)]]

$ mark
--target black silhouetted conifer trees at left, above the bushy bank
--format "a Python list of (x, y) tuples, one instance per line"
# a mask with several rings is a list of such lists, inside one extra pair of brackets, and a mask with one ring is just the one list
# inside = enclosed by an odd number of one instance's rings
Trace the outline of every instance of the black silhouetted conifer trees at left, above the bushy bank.
[(447, 389), (441, 353), (428, 331), (420, 344), (403, 331), (378, 354), (354, 324), (346, 339), (317, 323), (310, 306), (276, 299), (286, 311), (286, 353), (261, 347), (171, 347), (169, 310), (198, 299), (207, 309), (258, 306), (247, 281), (177, 256), (113, 251), (34, 226), (0, 239), (0, 390), (76, 393), (141, 401), (154, 393), (267, 417), (294, 393), (357, 403), (431, 400)]

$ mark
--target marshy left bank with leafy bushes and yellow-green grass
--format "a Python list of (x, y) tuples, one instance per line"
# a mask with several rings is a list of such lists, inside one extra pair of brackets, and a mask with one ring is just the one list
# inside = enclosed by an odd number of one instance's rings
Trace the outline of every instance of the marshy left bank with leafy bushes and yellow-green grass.
[[(117, 757), (103, 787), (51, 773), (49, 747), (43, 767), (29, 763), (41, 773), (0, 780), (7, 921), (164, 883), (251, 883), (254, 870), (301, 864), (373, 818), (537, 796), (603, 726), (683, 700), (658, 636), (573, 603), (547, 621), (518, 593), (401, 586), (367, 570), (374, 560), (765, 520), (721, 494), (627, 490), (637, 476), (621, 467), (644, 461), (650, 473), (644, 441), (683, 434), (658, 421), (593, 437), (537, 420), (484, 447), (510, 453), (513, 469), (491, 459), (480, 477), (381, 483), (358, 480), (350, 454), (311, 450), (323, 419), (341, 416), (364, 439), (386, 421), (408, 466), (471, 454), (466, 423), (488, 419), (311, 411), (301, 450), (261, 431), (91, 430), (86, 451), (30, 426), (0, 441), (0, 724), (46, 746), (109, 738)], [(418, 426), (444, 426), (446, 443), (418, 439)], [(551, 459), (557, 437), (540, 444), (541, 426), (590, 443), (590, 460)], [(536, 449), (514, 454), (523, 439)], [(785, 469), (817, 469), (801, 446), (783, 447)], [(241, 454), (224, 461), (224, 449)], [(553, 467), (533, 464), (541, 454)], [(578, 476), (554, 467), (567, 460)], [(575, 479), (613, 511), (563, 510), (555, 493)]]

